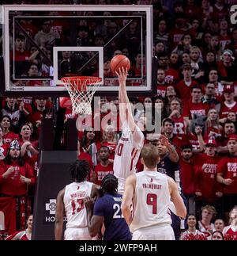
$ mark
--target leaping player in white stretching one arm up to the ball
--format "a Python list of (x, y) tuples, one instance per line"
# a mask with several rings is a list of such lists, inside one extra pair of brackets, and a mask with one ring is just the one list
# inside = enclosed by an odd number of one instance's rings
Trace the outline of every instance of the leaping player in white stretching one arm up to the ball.
[(114, 174), (119, 178), (118, 193), (123, 193), (126, 178), (136, 172), (135, 166), (143, 147), (144, 135), (139, 127), (143, 124), (139, 121), (137, 124), (134, 122), (130, 101), (126, 94), (127, 70), (123, 67), (119, 68), (116, 75), (119, 77), (119, 116), (122, 136), (115, 150)]

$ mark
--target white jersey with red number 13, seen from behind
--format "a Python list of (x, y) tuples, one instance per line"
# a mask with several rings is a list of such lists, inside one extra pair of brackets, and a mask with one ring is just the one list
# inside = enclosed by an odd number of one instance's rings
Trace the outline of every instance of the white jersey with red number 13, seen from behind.
[(92, 182), (73, 182), (66, 185), (63, 197), (66, 212), (66, 227), (87, 227), (87, 213), (84, 198), (90, 197)]

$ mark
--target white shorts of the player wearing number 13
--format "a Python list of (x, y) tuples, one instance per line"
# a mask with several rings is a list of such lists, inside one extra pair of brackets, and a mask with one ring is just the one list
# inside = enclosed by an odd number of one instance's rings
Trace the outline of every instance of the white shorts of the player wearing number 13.
[(88, 227), (67, 227), (64, 240), (96, 240), (96, 237), (90, 236)]

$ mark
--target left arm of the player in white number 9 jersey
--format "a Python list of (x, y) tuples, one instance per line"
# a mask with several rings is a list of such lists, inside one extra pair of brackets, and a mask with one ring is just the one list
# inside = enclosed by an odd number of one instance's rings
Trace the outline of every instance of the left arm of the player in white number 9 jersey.
[(126, 223), (130, 225), (132, 223), (131, 205), (133, 204), (133, 197), (136, 187), (136, 176), (134, 174), (126, 178), (125, 189), (122, 196), (122, 215), (124, 216)]

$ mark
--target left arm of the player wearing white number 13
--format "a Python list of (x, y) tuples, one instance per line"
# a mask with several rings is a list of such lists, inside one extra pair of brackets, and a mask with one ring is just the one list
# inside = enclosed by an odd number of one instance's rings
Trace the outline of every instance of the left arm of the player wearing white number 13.
[(57, 206), (56, 206), (56, 213), (55, 213), (55, 240), (62, 240), (62, 227), (63, 227), (63, 218), (65, 216), (64, 210), (64, 197), (65, 189), (62, 189), (58, 193), (57, 197)]

